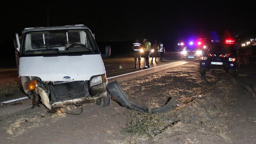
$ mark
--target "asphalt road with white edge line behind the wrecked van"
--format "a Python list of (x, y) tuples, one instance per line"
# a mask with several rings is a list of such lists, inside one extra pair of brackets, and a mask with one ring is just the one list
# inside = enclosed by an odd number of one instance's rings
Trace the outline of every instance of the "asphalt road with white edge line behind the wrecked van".
[[(144, 76), (147, 74), (156, 73), (157, 71), (162, 71), (174, 66), (182, 65), (190, 62), (191, 60), (182, 60), (181, 52), (167, 52), (163, 57), (163, 61), (157, 62), (153, 61), (150, 66), (151, 68), (143, 70), (144, 67), (144, 58), (141, 58), (141, 67), (134, 68), (134, 59), (133, 57), (128, 58), (113, 58), (104, 60), (105, 70), (107, 74), (108, 81), (125, 81), (128, 79), (133, 79), (138, 76)], [(10, 82), (10, 81), (19, 81), (17, 69), (3, 69), (0, 70), (0, 83)], [(24, 95), (11, 95), (7, 97), (0, 97), (0, 103), (6, 102), (7, 100), (15, 100), (23, 98)]]

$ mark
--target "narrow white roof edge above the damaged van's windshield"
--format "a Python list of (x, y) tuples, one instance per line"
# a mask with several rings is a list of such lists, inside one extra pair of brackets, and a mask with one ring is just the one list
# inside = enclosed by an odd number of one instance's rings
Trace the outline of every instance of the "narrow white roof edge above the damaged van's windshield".
[[(35, 28), (25, 28), (22, 33), (32, 32), (32, 31), (47, 31), (47, 30), (58, 30), (58, 29), (89, 29), (83, 24), (69, 25), (69, 26), (53, 26), (53, 27), (35, 27)], [(89, 29), (90, 30), (90, 29)]]

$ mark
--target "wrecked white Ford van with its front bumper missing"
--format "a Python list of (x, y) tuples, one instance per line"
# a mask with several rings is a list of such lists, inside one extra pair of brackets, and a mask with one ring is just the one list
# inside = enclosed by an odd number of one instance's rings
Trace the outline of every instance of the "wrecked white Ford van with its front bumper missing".
[[(24, 92), (32, 108), (96, 102), (110, 104), (101, 54), (84, 25), (26, 28), (16, 34), (16, 59)], [(106, 47), (105, 56), (110, 55)]]

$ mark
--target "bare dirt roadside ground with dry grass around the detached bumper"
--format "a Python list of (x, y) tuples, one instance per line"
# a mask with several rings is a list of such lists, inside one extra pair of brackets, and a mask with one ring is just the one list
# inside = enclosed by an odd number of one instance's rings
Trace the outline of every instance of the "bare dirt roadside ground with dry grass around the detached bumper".
[[(115, 99), (105, 108), (84, 104), (83, 112), (81, 106), (49, 111), (41, 105), (0, 116), (0, 140), (8, 144), (255, 144), (255, 81), (255, 63), (241, 65), (237, 77), (222, 71), (201, 77), (198, 60), (120, 82), (130, 99), (145, 107), (161, 107), (169, 97), (177, 98), (180, 106), (170, 112), (136, 112)], [(22, 94), (16, 91), (20, 82), (8, 84), (8, 91)], [(1, 93), (6, 85), (0, 84)], [(1, 105), (22, 106), (23, 102)]]

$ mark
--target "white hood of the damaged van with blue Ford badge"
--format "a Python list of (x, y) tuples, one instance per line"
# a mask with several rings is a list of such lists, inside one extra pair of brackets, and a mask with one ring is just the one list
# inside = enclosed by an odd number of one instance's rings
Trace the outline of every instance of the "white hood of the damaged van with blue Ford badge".
[(105, 74), (101, 55), (19, 58), (19, 76), (42, 81), (84, 81), (100, 74)]

